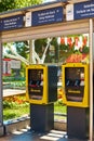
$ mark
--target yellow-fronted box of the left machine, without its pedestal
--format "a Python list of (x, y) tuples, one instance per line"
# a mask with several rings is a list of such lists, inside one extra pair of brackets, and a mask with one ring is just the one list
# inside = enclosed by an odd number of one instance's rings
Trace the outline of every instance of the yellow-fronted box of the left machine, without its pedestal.
[(30, 103), (48, 104), (57, 100), (57, 67), (29, 65), (26, 68), (26, 97)]

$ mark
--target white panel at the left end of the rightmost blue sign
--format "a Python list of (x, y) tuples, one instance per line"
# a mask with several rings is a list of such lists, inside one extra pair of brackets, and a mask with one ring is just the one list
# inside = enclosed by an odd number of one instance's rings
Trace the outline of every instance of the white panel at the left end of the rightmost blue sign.
[(66, 21), (73, 21), (73, 4), (66, 5)]

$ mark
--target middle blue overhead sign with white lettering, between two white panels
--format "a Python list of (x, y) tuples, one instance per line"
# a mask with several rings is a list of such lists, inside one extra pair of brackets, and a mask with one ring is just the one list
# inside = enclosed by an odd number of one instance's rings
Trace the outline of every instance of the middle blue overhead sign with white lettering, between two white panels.
[(31, 26), (63, 22), (63, 7), (56, 7), (31, 13)]

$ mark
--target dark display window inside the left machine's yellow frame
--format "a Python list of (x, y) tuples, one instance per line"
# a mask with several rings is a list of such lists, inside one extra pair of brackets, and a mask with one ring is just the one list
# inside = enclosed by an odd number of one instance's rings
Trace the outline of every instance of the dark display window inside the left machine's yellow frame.
[(43, 69), (28, 69), (29, 99), (41, 100), (43, 97)]

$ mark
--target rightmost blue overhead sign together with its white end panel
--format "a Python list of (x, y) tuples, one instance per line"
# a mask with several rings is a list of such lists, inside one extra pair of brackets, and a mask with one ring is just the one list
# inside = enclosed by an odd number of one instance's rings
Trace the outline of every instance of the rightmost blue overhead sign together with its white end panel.
[(66, 21), (94, 17), (94, 1), (68, 4), (66, 7)]

